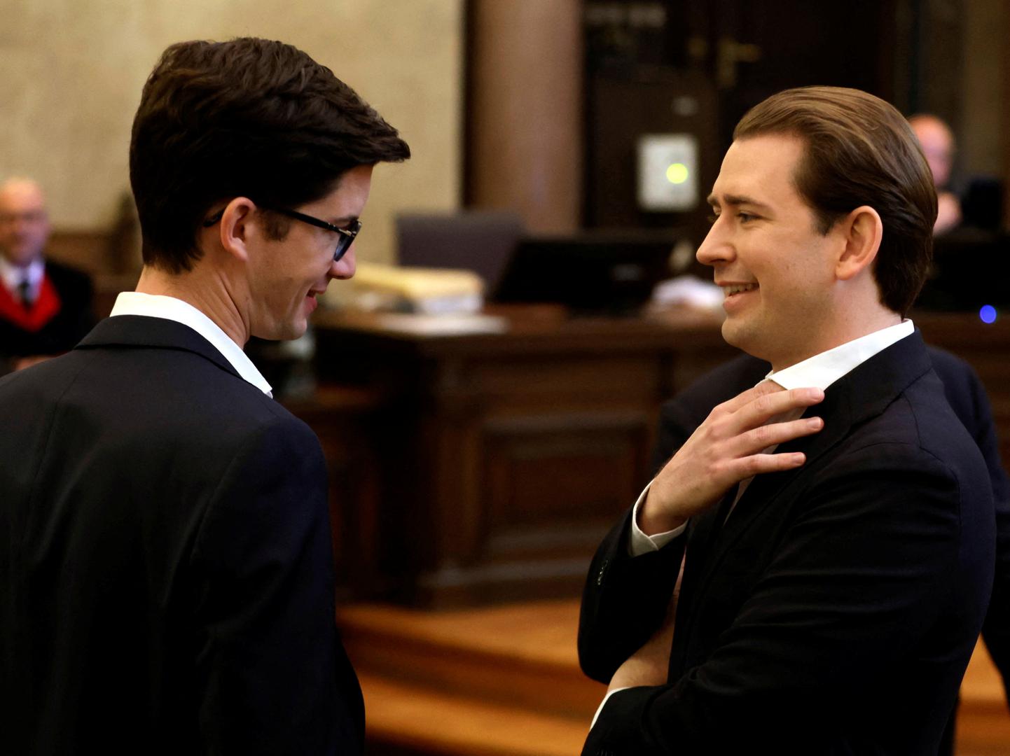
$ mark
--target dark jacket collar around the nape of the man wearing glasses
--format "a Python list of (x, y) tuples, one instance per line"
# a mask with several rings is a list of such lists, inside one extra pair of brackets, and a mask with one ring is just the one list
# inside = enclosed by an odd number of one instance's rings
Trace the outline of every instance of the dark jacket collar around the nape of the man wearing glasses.
[(179, 349), (210, 360), (225, 372), (241, 376), (213, 344), (187, 325), (167, 318), (143, 315), (117, 315), (96, 325), (76, 349), (109, 346)]

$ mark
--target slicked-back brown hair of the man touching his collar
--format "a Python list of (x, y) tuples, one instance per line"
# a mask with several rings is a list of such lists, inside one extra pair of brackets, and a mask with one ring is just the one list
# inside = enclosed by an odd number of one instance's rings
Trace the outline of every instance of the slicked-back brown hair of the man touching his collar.
[(874, 277), (881, 303), (905, 315), (925, 281), (933, 249), (936, 190), (908, 121), (866, 92), (800, 87), (751, 108), (734, 139), (787, 133), (805, 143), (794, 182), (827, 233), (862, 205), (884, 222)]

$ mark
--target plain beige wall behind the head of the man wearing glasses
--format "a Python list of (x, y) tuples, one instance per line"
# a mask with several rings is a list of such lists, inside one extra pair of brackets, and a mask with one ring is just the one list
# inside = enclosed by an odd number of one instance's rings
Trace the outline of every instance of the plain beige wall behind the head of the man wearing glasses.
[(393, 215), (459, 206), (463, 0), (4, 0), (0, 177), (38, 179), (58, 228), (103, 229), (128, 190), (129, 128), (161, 51), (190, 38), (291, 42), (410, 143), (376, 170), (359, 256), (393, 256)]

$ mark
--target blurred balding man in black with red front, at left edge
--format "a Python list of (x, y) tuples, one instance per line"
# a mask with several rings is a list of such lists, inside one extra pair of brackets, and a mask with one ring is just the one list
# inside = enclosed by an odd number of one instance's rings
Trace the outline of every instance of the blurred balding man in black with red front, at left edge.
[(95, 324), (91, 280), (46, 260), (48, 238), (41, 188), (0, 184), (0, 374), (69, 351)]

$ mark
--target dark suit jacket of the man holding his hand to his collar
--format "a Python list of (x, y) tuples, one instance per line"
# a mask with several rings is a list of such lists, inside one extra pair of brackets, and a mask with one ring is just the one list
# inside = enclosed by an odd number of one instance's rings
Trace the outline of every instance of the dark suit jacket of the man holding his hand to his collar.
[[(760, 376), (759, 376), (760, 377)], [(613, 695), (586, 754), (935, 753), (993, 573), (981, 454), (918, 334), (833, 384), (807, 462), (756, 477), (653, 554), (629, 516), (594, 559), (579, 651), (608, 680), (660, 626), (681, 556), (670, 683)]]

